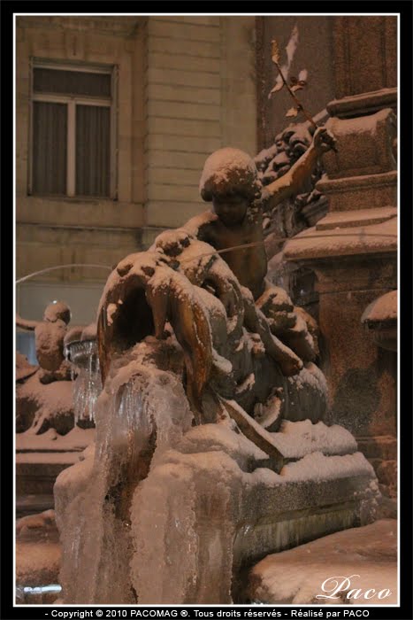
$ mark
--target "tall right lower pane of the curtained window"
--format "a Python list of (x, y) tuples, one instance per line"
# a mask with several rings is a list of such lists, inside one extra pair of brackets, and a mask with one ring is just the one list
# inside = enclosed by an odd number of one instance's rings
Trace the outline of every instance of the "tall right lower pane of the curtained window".
[(110, 108), (76, 105), (76, 194), (110, 195)]

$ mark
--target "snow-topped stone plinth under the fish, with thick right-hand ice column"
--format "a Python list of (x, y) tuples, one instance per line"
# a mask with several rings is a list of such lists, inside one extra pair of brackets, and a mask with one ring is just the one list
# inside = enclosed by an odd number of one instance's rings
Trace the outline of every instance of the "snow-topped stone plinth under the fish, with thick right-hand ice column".
[[(277, 474), (220, 426), (189, 430), (134, 493), (142, 604), (246, 603), (249, 570), (266, 555), (375, 519), (378, 484), (362, 453), (310, 453)], [(247, 449), (255, 469), (243, 469)]]

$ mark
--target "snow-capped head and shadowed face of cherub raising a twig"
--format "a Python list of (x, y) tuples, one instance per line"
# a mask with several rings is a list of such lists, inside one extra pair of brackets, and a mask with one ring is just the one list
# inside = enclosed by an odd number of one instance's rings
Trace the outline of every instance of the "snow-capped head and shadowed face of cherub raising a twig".
[(240, 149), (226, 147), (205, 161), (199, 189), (219, 219), (232, 226), (241, 223), (249, 205), (261, 198), (263, 186), (253, 159)]

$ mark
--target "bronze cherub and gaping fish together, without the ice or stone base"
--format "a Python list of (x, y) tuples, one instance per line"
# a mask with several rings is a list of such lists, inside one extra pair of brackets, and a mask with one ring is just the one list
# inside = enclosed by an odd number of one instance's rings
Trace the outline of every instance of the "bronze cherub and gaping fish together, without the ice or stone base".
[[(332, 143), (324, 128), (317, 129), (312, 148), (266, 191), (279, 199), (294, 193)], [(306, 322), (294, 314), (285, 291), (264, 278), (263, 187), (254, 161), (238, 149), (214, 152), (205, 162), (200, 191), (213, 211), (158, 236), (149, 252), (122, 260), (106, 284), (98, 314), (103, 382), (113, 353), (122, 353), (145, 336), (161, 339), (165, 322), (172, 324), (183, 351), (187, 397), (198, 422), (203, 421), (205, 389), (229, 394), (251, 413), (274, 388), (283, 388), (284, 377), (300, 373), (302, 360), (309, 363), (316, 357)], [(221, 327), (215, 320), (211, 330), (217, 314)], [(220, 333), (216, 347), (211, 331)], [(287, 338), (289, 346), (279, 336)], [(260, 367), (266, 378), (258, 383)], [(304, 383), (310, 389), (318, 380), (322, 394), (317, 367), (304, 368), (301, 379), (309, 372), (311, 378)], [(321, 401), (321, 410), (313, 409), (314, 421), (325, 407)]]

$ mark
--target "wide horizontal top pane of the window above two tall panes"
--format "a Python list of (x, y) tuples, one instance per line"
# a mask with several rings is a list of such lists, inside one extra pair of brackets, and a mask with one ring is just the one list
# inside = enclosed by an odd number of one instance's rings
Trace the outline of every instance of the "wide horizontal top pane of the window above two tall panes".
[(111, 74), (91, 74), (85, 71), (34, 69), (35, 93), (111, 97)]

